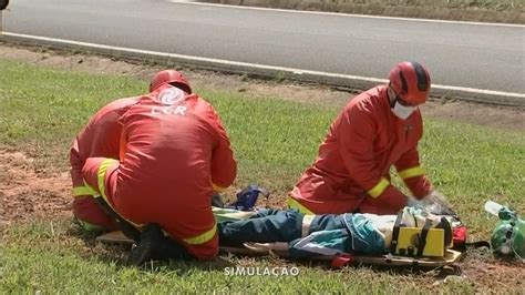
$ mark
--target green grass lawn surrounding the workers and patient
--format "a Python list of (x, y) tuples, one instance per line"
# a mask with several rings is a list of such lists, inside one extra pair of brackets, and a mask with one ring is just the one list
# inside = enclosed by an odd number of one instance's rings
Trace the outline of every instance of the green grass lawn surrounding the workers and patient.
[[(37, 68), (0, 60), (0, 146), (35, 157), (35, 167), (68, 170), (68, 150), (87, 119), (109, 101), (141, 94), (144, 81)], [(220, 114), (239, 165), (235, 186), (267, 186), (284, 197), (311, 164), (339, 111), (334, 106), (251, 98), (197, 89)], [(495, 221), (486, 200), (525, 212), (525, 134), (445, 120), (426, 120), (422, 162), (440, 191), (456, 206), (471, 237), (488, 238)], [(2, 170), (4, 167), (1, 167)], [(490, 285), (463, 281), (433, 284), (430, 273), (346, 267), (272, 258), (220, 256), (212, 263), (123, 264), (125, 253), (93, 244), (68, 218), (33, 220), (3, 228), (0, 293), (421, 293), (474, 292)], [(298, 267), (297, 276), (235, 276), (225, 267)], [(512, 286), (511, 286), (512, 287)], [(519, 289), (516, 287), (516, 292)]]

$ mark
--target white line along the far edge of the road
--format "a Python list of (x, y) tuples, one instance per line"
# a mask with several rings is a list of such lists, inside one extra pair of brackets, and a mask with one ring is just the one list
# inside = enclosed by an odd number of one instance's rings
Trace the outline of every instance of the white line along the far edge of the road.
[(327, 12), (327, 11), (308, 11), (308, 10), (262, 8), (262, 7), (245, 7), (245, 6), (219, 4), (219, 3), (193, 2), (193, 1), (184, 1), (184, 0), (165, 0), (165, 1), (171, 2), (171, 3), (177, 3), (177, 4), (218, 7), (218, 8), (229, 8), (229, 9), (279, 11), (279, 12), (303, 13), (303, 14), (323, 14), (323, 16), (337, 16), (337, 17), (363, 18), (363, 19), (385, 19), (385, 20), (402, 20), (402, 21), (420, 21), (420, 22), (439, 22), (439, 23), (461, 23), (461, 24), (472, 24), (472, 26), (494, 26), (494, 27), (525, 28), (525, 24), (518, 24), (518, 23), (497, 23), (497, 22), (415, 19), (415, 18), (400, 18), (400, 17), (384, 17), (384, 16), (368, 16), (368, 14)]

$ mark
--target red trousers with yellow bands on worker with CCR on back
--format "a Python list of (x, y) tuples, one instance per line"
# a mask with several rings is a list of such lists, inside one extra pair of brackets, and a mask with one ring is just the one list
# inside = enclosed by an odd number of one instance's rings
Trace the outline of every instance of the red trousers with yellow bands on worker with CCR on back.
[(197, 258), (209, 260), (218, 253), (218, 236), (210, 196), (203, 194), (208, 204), (187, 200), (184, 194), (166, 190), (165, 194), (147, 194), (143, 187), (120, 180), (120, 162), (113, 159), (90, 157), (82, 169), (84, 180), (125, 220), (141, 226), (157, 223), (175, 241)]

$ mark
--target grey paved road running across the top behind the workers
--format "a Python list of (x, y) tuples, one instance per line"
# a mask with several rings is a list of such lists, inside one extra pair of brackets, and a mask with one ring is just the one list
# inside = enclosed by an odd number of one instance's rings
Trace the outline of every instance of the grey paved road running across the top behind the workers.
[(433, 82), (521, 95), (525, 26), (202, 6), (162, 0), (17, 0), (3, 31), (384, 79), (401, 60)]

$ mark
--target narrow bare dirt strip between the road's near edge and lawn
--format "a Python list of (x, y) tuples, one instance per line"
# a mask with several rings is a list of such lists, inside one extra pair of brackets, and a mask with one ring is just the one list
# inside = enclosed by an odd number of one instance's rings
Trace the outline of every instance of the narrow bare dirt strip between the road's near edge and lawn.
[[(92, 73), (131, 75), (147, 81), (162, 65), (145, 65), (110, 58), (72, 54), (47, 49), (19, 48), (0, 43), (0, 58), (37, 65)], [(323, 85), (288, 81), (264, 81), (246, 75), (223, 74), (214, 71), (178, 69), (184, 71), (194, 89), (237, 91), (246, 96), (281, 98), (309, 103), (342, 106), (358, 90), (338, 90)], [(478, 103), (433, 99), (422, 108), (426, 118), (451, 119), (503, 130), (525, 131), (525, 110), (492, 106)]]

